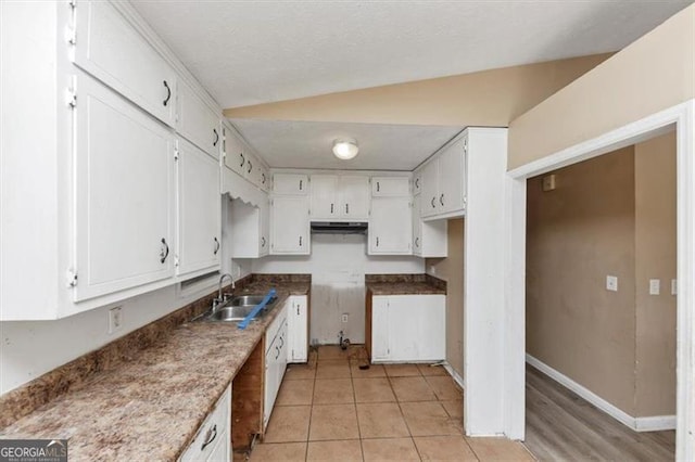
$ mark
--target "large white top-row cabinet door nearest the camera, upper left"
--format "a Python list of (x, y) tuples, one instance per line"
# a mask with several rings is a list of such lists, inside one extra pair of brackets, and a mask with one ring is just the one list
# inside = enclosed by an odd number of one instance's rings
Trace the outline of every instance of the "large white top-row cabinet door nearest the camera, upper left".
[(110, 2), (87, 0), (75, 8), (75, 64), (174, 126), (174, 69)]

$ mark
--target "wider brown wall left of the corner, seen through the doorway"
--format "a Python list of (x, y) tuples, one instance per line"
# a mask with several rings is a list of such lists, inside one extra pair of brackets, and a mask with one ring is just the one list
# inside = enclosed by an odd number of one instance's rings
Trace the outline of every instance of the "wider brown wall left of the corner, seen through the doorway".
[(527, 351), (634, 415), (633, 147), (555, 175), (528, 182)]

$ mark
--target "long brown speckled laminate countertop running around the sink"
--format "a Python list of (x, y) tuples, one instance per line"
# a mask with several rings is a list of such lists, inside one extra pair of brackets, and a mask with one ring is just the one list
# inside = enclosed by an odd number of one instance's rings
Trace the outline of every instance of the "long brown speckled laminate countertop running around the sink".
[(195, 436), (289, 295), (308, 282), (253, 281), (240, 293), (276, 287), (278, 303), (245, 330), (187, 322), (128, 362), (0, 431), (2, 438), (67, 438), (71, 461), (176, 460)]

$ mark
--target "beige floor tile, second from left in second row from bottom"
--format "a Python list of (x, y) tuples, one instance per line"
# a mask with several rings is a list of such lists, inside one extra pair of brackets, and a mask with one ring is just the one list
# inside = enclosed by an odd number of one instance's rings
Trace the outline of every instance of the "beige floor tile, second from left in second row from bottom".
[(312, 408), (311, 441), (358, 438), (355, 405), (315, 405)]

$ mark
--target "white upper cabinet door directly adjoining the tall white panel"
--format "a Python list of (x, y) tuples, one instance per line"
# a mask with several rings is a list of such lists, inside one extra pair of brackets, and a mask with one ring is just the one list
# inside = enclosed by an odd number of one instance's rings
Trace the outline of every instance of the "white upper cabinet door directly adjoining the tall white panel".
[(460, 210), (464, 208), (464, 139), (448, 146), (439, 158), (439, 208), (440, 213)]

